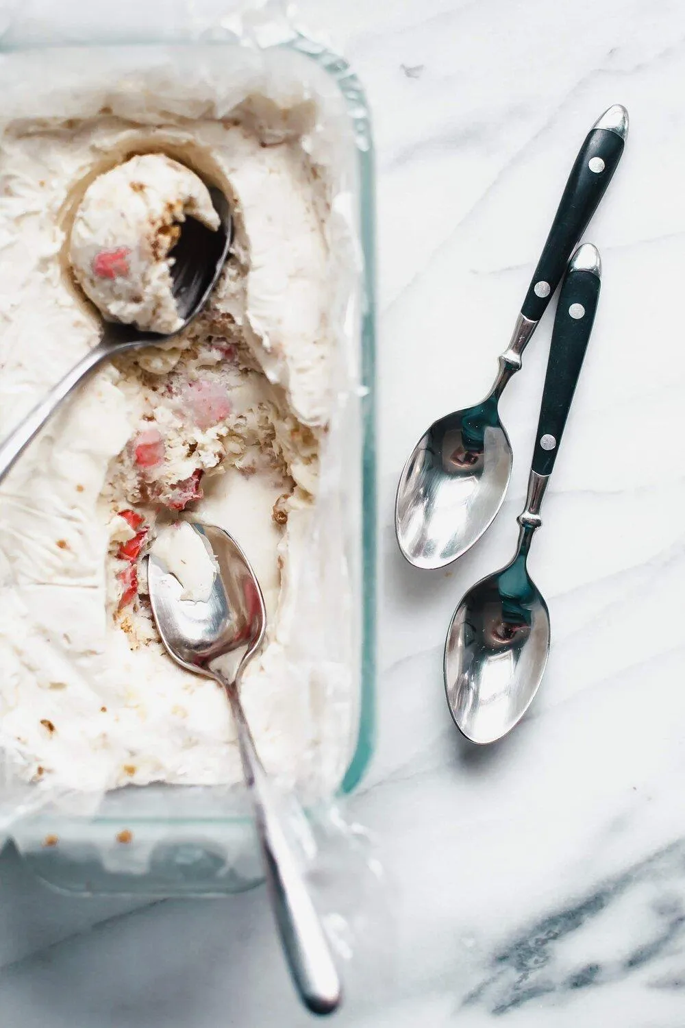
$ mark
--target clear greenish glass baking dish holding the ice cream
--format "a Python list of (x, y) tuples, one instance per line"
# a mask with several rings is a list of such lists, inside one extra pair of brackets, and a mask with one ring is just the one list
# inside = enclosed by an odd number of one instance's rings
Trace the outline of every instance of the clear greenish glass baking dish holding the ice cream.
[[(5, 36), (3, 53), (28, 51)], [(82, 36), (79, 39), (81, 42)], [(41, 43), (43, 41), (41, 40)], [(62, 45), (61, 41), (58, 45)], [(69, 42), (71, 42), (69, 40)], [(150, 39), (117, 38), (116, 47), (155, 43)], [(168, 42), (164, 40), (164, 45)], [(195, 42), (172, 40), (184, 49)], [(33, 43), (33, 40), (32, 40)], [(50, 44), (51, 45), (51, 42)], [(206, 40), (202, 40), (206, 46)], [(239, 41), (218, 41), (227, 61)], [(88, 41), (88, 48), (113, 44), (111, 37)], [(295, 60), (314, 62), (344, 100), (355, 149), (354, 220), (359, 241), (360, 302), (355, 395), (350, 398), (350, 452), (346, 456), (347, 541), (352, 598), (355, 608), (356, 704), (355, 738), (340, 785), (340, 797), (351, 793), (370, 761), (375, 734), (376, 636), (376, 450), (375, 450), (375, 310), (373, 147), (369, 109), (361, 86), (344, 59), (304, 35), (293, 32), (263, 47), (288, 49)], [(78, 54), (74, 51), (75, 67)], [(122, 833), (128, 845), (121, 844)], [(8, 833), (34, 873), (50, 885), (78, 893), (145, 895), (220, 895), (241, 891), (261, 880), (259, 855), (244, 795), (220, 786), (129, 786), (106, 794), (96, 810), (73, 815), (62, 805), (18, 819)], [(59, 844), (58, 841), (59, 840)], [(53, 843), (53, 844), (52, 844)]]

